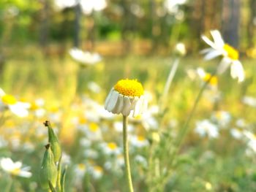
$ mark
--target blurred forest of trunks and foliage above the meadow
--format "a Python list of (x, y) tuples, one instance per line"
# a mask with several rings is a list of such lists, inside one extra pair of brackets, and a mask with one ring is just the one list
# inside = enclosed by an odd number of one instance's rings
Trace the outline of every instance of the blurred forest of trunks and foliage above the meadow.
[(0, 6), (1, 60), (15, 46), (59, 57), (72, 46), (102, 55), (167, 55), (182, 41), (197, 53), (200, 35), (211, 29), (243, 53), (255, 47), (254, 0), (3, 0)]

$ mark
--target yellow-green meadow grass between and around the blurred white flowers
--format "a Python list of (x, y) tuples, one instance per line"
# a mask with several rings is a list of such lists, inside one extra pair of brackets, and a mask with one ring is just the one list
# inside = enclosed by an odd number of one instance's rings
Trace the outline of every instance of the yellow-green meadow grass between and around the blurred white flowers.
[[(56, 123), (56, 127), (61, 129), (61, 143), (64, 150), (71, 154), (72, 164), (67, 173), (67, 191), (72, 191), (74, 186), (75, 164), (84, 162), (82, 153), (83, 148), (79, 147), (80, 132), (72, 125), (71, 119), (76, 113), (73, 110), (73, 104), (80, 104), (83, 95), (90, 96), (99, 104), (104, 104), (105, 97), (110, 88), (122, 78), (136, 78), (142, 82), (146, 91), (152, 94), (152, 100), (149, 106), (158, 104), (163, 91), (167, 74), (170, 70), (172, 58), (159, 56), (135, 56), (125, 57), (106, 57), (102, 63), (96, 66), (80, 67), (69, 55), (63, 58), (56, 56), (45, 58), (37, 49), (28, 48), (26, 50), (6, 50), (6, 63), (4, 71), (1, 73), (0, 87), (7, 93), (12, 93), (20, 99), (34, 101), (37, 98), (45, 99), (45, 105), (58, 107), (63, 113), (61, 121)], [(172, 168), (171, 177), (167, 180), (165, 190), (162, 191), (255, 191), (256, 177), (255, 154), (252, 157), (246, 156), (246, 142), (236, 140), (230, 136), (230, 128), (236, 126), (236, 120), (244, 119), (250, 126), (250, 131), (255, 128), (255, 108), (248, 107), (241, 103), (241, 98), (245, 95), (255, 96), (255, 61), (243, 59), (242, 63), (246, 69), (246, 81), (238, 84), (232, 80), (229, 72), (225, 72), (219, 77), (219, 90), (222, 99), (212, 104), (208, 101), (208, 96), (203, 96), (197, 108), (194, 118), (189, 125), (189, 133), (182, 145), (181, 153), (175, 167)], [(158, 116), (157, 120), (162, 122), (163, 131), (160, 135), (160, 142), (154, 151), (154, 167), (159, 164), (159, 171), (165, 172), (165, 165), (168, 164), (168, 154), (166, 153), (167, 138), (175, 138), (179, 128), (192, 108), (195, 96), (200, 89), (200, 80), (195, 77), (191, 79), (187, 75), (187, 70), (196, 69), (198, 66), (212, 72), (218, 61), (203, 61), (202, 58), (187, 57), (181, 59), (178, 71), (174, 77), (174, 82), (170, 88), (167, 98), (167, 112), (165, 115)], [(97, 82), (102, 88), (102, 92), (93, 93), (89, 91), (87, 82)], [(83, 109), (81, 109), (82, 111)], [(220, 130), (220, 136), (217, 139), (208, 139), (199, 137), (192, 131), (197, 120), (209, 119), (216, 110), (225, 110), (230, 112), (232, 120), (224, 129)], [(48, 117), (45, 117), (48, 118)], [(38, 128), (42, 119), (18, 119), (12, 118), (14, 128), (25, 128), (31, 131)], [(115, 120), (118, 120), (115, 119)], [(176, 126), (171, 126), (170, 122), (176, 122)], [(113, 122), (108, 120), (100, 121), (100, 126), (110, 126), (110, 130), (105, 133), (108, 141), (115, 140), (120, 142), (120, 134), (113, 132)], [(133, 124), (133, 123), (132, 123)], [(23, 125), (25, 127), (20, 127)], [(150, 140), (151, 132), (145, 130), (142, 126), (134, 123), (136, 133), (143, 133)], [(6, 133), (7, 125), (4, 124), (1, 132)], [(42, 128), (42, 127), (41, 127)], [(154, 132), (154, 131), (153, 131)], [(33, 191), (31, 183), (37, 183), (37, 169), (40, 166), (39, 161), (42, 158), (42, 142), (35, 144), (33, 137), (28, 136), (34, 143), (35, 148), (31, 153), (23, 153), (22, 150), (14, 150), (11, 147), (0, 151), (0, 156), (12, 156), (21, 159), (31, 166), (34, 176), (31, 182), (23, 178), (15, 179), (12, 185), (12, 191), (17, 188), (23, 188), (25, 191)], [(12, 135), (13, 136), (13, 135)], [(46, 136), (45, 136), (46, 137)], [(112, 138), (113, 137), (113, 138)], [(10, 137), (9, 139), (11, 139)], [(24, 138), (23, 138), (24, 139)], [(45, 138), (42, 137), (42, 141)], [(172, 145), (171, 145), (172, 146)], [(97, 149), (97, 143), (93, 148)], [(138, 149), (132, 153), (132, 159), (136, 154), (142, 154), (148, 160), (151, 147)], [(100, 155), (97, 158), (97, 164), (103, 166), (110, 157)], [(112, 157), (113, 158), (113, 157)], [(147, 183), (146, 174), (155, 172), (132, 161), (133, 180), (135, 180), (135, 191), (150, 191), (151, 183)], [(2, 175), (0, 175), (2, 178)], [(86, 180), (86, 177), (84, 178)], [(153, 180), (155, 182), (155, 180)], [(6, 181), (8, 182), (8, 180)], [(153, 182), (153, 183), (154, 183)], [(86, 183), (86, 182), (85, 182)], [(86, 185), (83, 183), (83, 185)], [(4, 180), (1, 180), (0, 186), (5, 186)], [(34, 184), (34, 191), (39, 191), (39, 186)], [(91, 189), (94, 191), (125, 191), (124, 178), (122, 174), (116, 176), (113, 172), (105, 170), (101, 180), (91, 179)], [(77, 189), (86, 188), (85, 186)], [(137, 189), (137, 190), (136, 190)]]

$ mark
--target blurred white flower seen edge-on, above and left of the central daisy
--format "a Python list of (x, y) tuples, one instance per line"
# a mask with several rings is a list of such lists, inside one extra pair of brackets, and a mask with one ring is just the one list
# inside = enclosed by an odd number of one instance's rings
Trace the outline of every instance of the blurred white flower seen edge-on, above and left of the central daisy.
[(78, 61), (80, 64), (83, 65), (94, 65), (102, 61), (102, 57), (98, 53), (90, 53), (88, 51), (84, 52), (78, 48), (72, 48), (69, 50), (69, 54), (75, 61)]

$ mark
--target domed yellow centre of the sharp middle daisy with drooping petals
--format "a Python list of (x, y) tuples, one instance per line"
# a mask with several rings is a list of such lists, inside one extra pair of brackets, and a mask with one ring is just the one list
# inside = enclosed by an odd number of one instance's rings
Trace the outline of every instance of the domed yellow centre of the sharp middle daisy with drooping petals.
[(114, 89), (124, 96), (142, 96), (143, 86), (137, 80), (119, 80)]

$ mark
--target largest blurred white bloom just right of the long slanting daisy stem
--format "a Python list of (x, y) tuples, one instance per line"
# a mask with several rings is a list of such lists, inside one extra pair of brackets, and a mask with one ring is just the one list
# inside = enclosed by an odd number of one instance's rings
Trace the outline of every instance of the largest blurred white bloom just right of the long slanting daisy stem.
[(197, 121), (195, 132), (199, 134), (201, 137), (210, 137), (217, 138), (219, 137), (219, 129), (214, 123), (211, 123), (209, 120), (201, 120)]

